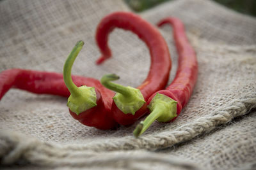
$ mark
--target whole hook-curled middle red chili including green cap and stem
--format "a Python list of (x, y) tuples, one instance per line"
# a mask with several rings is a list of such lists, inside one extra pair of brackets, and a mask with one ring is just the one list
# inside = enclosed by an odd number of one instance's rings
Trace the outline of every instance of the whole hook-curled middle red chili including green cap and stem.
[[(96, 41), (102, 53), (102, 57), (97, 60), (97, 64), (111, 57), (108, 35), (116, 27), (137, 34), (150, 50), (150, 71), (146, 80), (137, 90), (131, 87), (127, 89), (127, 87), (110, 82), (118, 79), (115, 74), (106, 75), (101, 80), (105, 87), (118, 92), (113, 97), (115, 102), (112, 106), (113, 117), (116, 122), (122, 125), (130, 125), (147, 113), (145, 101), (148, 97), (157, 90), (164, 89), (168, 83), (172, 61), (166, 41), (154, 25), (134, 13), (118, 11), (104, 17), (97, 27)], [(141, 93), (138, 89), (141, 90)]]

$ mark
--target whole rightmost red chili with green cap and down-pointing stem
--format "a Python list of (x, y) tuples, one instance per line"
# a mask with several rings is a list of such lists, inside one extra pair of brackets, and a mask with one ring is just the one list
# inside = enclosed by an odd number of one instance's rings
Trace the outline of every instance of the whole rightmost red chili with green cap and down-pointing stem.
[(178, 18), (173, 17), (164, 18), (157, 25), (163, 24), (172, 24), (173, 37), (179, 53), (179, 66), (175, 79), (166, 90), (159, 90), (148, 99), (151, 113), (134, 130), (136, 137), (145, 132), (154, 120), (170, 122), (177, 118), (182, 108), (188, 103), (197, 79), (196, 53), (188, 42), (184, 25)]

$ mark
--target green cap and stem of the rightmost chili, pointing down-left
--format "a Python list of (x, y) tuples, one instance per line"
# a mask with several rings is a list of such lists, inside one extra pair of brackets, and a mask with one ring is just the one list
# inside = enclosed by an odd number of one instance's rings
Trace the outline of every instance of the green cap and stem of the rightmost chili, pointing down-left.
[(136, 138), (143, 134), (155, 120), (158, 122), (168, 122), (177, 117), (177, 101), (163, 94), (157, 93), (148, 105), (148, 108), (151, 113), (133, 131)]

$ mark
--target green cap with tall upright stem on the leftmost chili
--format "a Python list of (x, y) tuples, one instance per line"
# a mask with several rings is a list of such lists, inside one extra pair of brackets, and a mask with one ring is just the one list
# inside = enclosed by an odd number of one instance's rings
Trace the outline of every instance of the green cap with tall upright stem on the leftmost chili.
[(71, 78), (72, 66), (83, 45), (83, 41), (78, 41), (76, 43), (76, 46), (74, 46), (72, 52), (70, 55), (68, 55), (63, 68), (63, 79), (68, 90), (70, 91), (67, 106), (77, 115), (83, 111), (93, 108), (94, 106), (97, 106), (97, 94), (94, 87), (86, 87), (86, 85), (77, 87)]

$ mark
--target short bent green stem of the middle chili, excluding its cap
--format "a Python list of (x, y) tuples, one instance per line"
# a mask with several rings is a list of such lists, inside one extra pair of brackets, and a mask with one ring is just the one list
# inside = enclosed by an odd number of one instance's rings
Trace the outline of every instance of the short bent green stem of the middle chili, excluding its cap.
[(102, 83), (102, 85), (104, 85), (104, 87), (113, 90), (115, 92), (118, 92), (124, 96), (131, 96), (131, 91), (129, 89), (127, 89), (127, 87), (124, 87), (123, 85), (118, 85), (116, 83), (113, 83), (111, 81), (115, 81), (118, 80), (119, 76), (117, 76), (116, 74), (106, 74), (104, 76), (102, 76), (100, 82)]

